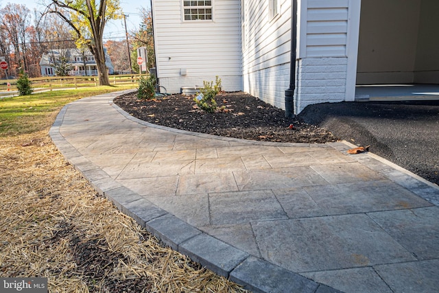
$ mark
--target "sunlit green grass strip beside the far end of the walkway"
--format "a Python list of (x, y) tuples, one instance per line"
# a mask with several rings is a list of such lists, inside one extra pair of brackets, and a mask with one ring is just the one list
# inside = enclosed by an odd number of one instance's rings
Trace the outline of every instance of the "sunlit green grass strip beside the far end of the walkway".
[(81, 89), (47, 91), (0, 99), (0, 136), (19, 135), (43, 130), (53, 123), (62, 106), (81, 99), (133, 89), (134, 86), (93, 86)]

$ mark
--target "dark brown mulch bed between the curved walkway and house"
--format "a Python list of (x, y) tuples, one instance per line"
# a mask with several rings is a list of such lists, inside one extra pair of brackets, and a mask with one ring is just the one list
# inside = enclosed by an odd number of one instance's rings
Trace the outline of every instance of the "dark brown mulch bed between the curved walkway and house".
[(337, 141), (331, 132), (298, 118), (285, 118), (285, 111), (247, 93), (220, 93), (218, 107), (225, 111), (206, 113), (193, 96), (168, 95), (153, 100), (137, 98), (137, 92), (121, 95), (115, 104), (143, 121), (193, 132), (256, 141), (327, 143)]

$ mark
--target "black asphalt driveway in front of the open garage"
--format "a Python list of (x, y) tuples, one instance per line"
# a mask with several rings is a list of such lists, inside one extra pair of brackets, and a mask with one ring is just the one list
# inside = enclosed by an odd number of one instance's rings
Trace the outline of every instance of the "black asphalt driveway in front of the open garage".
[(439, 185), (439, 101), (341, 102), (298, 115)]

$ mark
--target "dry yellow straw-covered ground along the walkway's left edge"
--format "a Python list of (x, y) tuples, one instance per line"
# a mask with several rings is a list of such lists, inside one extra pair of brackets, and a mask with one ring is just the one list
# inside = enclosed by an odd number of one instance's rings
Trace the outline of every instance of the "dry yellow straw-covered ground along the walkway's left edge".
[(47, 277), (49, 292), (244, 292), (115, 209), (47, 132), (0, 138), (1, 277)]

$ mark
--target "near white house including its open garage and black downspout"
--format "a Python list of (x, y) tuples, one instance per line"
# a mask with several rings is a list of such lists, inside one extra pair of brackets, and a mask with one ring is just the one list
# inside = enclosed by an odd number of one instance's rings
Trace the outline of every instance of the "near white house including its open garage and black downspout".
[(152, 14), (171, 93), (219, 75), (284, 109), (294, 89), (297, 114), (354, 101), (356, 84), (439, 83), (437, 0), (152, 0)]

